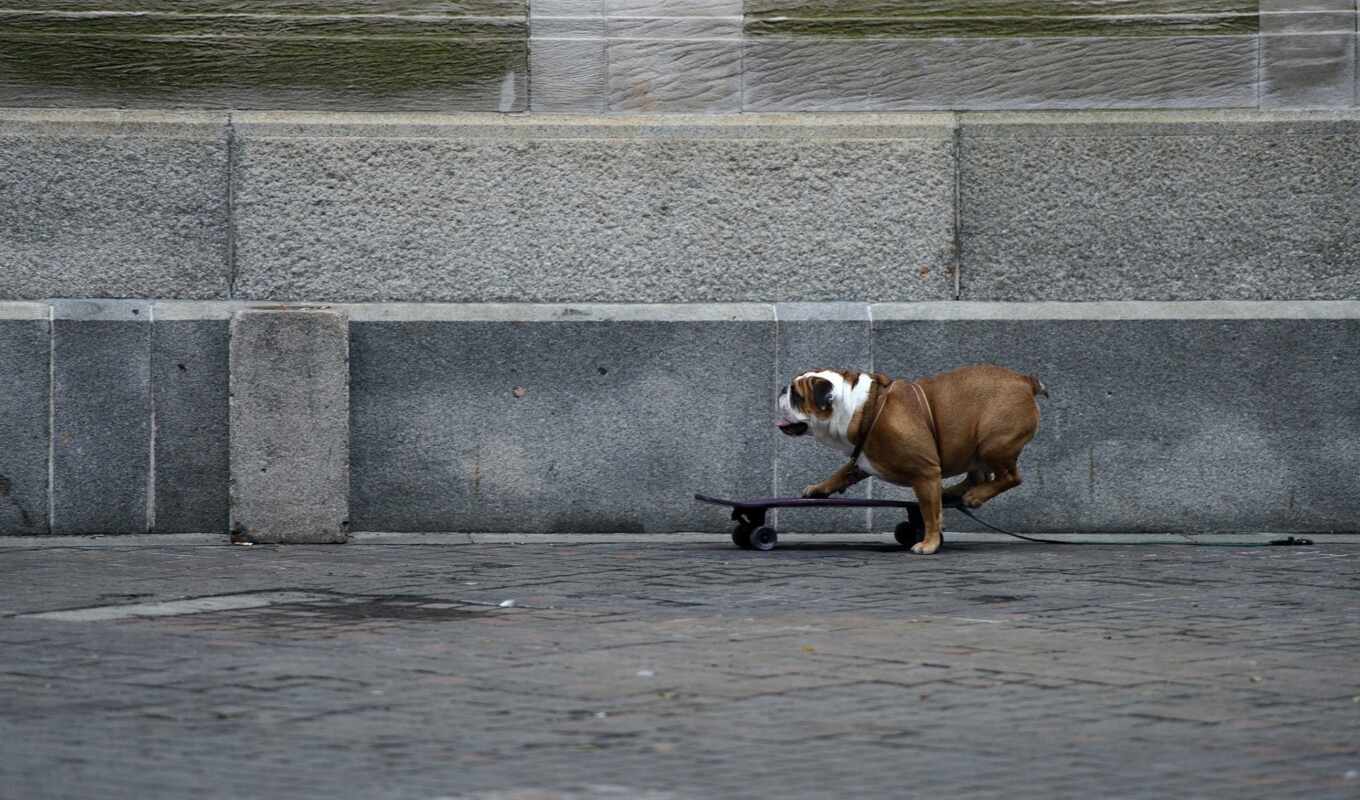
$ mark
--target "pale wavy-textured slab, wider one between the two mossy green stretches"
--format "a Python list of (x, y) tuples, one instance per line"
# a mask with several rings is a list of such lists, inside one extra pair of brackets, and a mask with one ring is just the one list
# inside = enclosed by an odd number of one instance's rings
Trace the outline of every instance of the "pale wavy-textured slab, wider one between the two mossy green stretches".
[(741, 110), (741, 42), (611, 39), (611, 112)]

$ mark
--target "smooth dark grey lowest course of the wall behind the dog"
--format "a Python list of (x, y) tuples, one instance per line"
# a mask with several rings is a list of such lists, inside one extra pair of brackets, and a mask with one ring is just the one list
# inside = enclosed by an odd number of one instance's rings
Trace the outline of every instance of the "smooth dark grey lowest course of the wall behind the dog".
[[(228, 358), (230, 320), (258, 314)], [(721, 532), (726, 514), (692, 493), (796, 493), (840, 463), (774, 430), (796, 371), (979, 361), (1051, 392), (1024, 486), (986, 507), (994, 524), (1356, 532), (1342, 465), (1360, 459), (1357, 351), (1355, 301), (5, 302), (0, 532)]]

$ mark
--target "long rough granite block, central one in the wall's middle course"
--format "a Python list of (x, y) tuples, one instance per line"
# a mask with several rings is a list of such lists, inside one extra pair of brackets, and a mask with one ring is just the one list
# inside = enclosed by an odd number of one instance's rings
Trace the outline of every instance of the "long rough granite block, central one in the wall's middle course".
[(947, 122), (242, 124), (237, 295), (945, 299)]

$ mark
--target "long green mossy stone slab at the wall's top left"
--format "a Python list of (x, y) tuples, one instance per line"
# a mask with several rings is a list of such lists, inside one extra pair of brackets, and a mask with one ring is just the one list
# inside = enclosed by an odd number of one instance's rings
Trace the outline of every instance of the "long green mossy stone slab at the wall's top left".
[(0, 102), (524, 110), (525, 3), (480, 5), (15, 10), (0, 19)]

